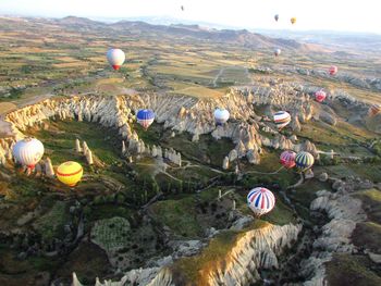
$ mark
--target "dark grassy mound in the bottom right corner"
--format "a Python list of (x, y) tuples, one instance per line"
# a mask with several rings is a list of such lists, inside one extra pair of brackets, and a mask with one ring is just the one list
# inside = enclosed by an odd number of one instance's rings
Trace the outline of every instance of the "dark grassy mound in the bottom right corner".
[(381, 285), (381, 277), (369, 270), (370, 264), (366, 257), (334, 254), (325, 264), (328, 283), (335, 286)]

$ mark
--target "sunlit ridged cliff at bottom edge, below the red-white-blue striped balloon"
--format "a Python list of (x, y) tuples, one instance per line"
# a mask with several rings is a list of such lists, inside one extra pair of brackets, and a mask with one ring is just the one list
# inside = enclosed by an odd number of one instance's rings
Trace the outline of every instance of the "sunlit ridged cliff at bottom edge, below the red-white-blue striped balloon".
[[(216, 261), (212, 268), (201, 271), (205, 285), (239, 286), (258, 281), (259, 269), (279, 268), (276, 256), (290, 248), (296, 241), (302, 225), (287, 224), (283, 226), (266, 224), (263, 227), (248, 231), (242, 235), (236, 244), (228, 251), (224, 261)], [(190, 283), (190, 282), (189, 282)], [(73, 285), (82, 286), (75, 273)], [(96, 286), (175, 286), (170, 268), (151, 268), (132, 270), (120, 282), (97, 279)]]

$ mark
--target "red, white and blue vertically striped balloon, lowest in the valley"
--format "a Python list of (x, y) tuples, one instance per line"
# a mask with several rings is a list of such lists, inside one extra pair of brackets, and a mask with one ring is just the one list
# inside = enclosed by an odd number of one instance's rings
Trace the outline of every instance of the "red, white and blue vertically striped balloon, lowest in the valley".
[(254, 214), (259, 217), (275, 207), (275, 197), (267, 188), (254, 188), (247, 195), (247, 204)]

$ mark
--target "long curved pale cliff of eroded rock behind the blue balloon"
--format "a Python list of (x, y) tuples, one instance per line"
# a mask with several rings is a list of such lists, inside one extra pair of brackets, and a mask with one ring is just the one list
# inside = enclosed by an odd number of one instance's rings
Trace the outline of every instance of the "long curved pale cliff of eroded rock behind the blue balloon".
[[(253, 97), (255, 96), (259, 97), (257, 100), (265, 100), (257, 94), (253, 95)], [(300, 100), (297, 101), (298, 103), (293, 105), (296, 110), (303, 110), (304, 121), (309, 119), (312, 112), (305, 98), (306, 96), (302, 96)], [(274, 100), (274, 102), (283, 104), (291, 101), (287, 101), (286, 97), (281, 97), (280, 100)], [(272, 104), (272, 101), (270, 100), (269, 103)], [(230, 111), (231, 120), (223, 126), (216, 126), (213, 111), (217, 107), (226, 107)], [(131, 125), (136, 120), (136, 112), (142, 108), (155, 110), (156, 121), (163, 124), (164, 128), (193, 134), (195, 141), (202, 134), (211, 134), (217, 140), (231, 138), (236, 144), (237, 157), (246, 157), (253, 164), (260, 163), (261, 146), (296, 151), (306, 150), (318, 157), (316, 147), (310, 142), (294, 145), (276, 132), (274, 132), (276, 136), (272, 139), (260, 135), (257, 122), (259, 117), (254, 112), (251, 103), (248, 103), (244, 92), (230, 92), (219, 99), (143, 94), (118, 97), (73, 96), (65, 99), (47, 99), (13, 111), (7, 114), (4, 119), (9, 132), (0, 139), (0, 163), (5, 164), (7, 159), (12, 159), (10, 151), (12, 145), (24, 137), (24, 130), (32, 126), (41, 126), (44, 121), (49, 119), (85, 120), (105, 127), (118, 128), (119, 134), (126, 140), (130, 151), (145, 153), (151, 147), (146, 146), (138, 138)], [(261, 124), (263, 125), (263, 123)], [(265, 124), (265, 126), (267, 125)], [(271, 129), (271, 127), (268, 128)], [(180, 153), (171, 150), (168, 152), (168, 159), (181, 165)], [(230, 162), (235, 159), (235, 156), (229, 154)], [(88, 161), (91, 162), (91, 158), (88, 158)], [(224, 166), (226, 166), (226, 162)]]

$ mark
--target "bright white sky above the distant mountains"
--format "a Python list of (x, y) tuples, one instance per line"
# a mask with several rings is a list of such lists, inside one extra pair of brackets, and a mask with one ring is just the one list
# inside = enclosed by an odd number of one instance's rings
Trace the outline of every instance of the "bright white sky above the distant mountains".
[[(169, 16), (254, 30), (292, 28), (381, 34), (380, 11), (380, 0), (0, 0), (0, 13), (8, 15), (110, 20)], [(280, 15), (278, 23), (274, 14)], [(292, 16), (297, 17), (293, 26)]]

